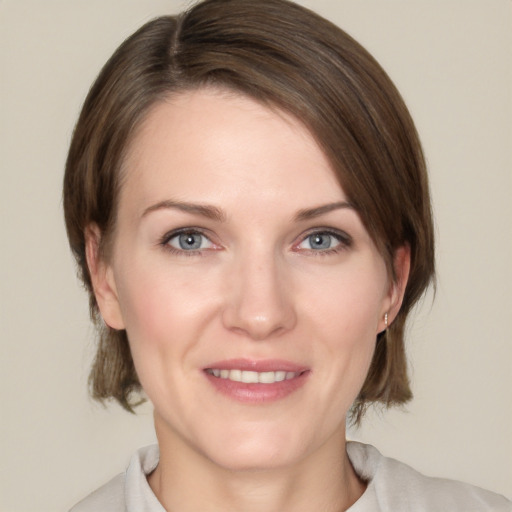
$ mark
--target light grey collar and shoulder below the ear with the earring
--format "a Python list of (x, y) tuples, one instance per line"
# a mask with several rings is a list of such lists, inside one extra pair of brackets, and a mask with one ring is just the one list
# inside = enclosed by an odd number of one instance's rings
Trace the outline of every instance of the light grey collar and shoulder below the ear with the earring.
[[(512, 512), (512, 502), (503, 496), (462, 482), (422, 475), (407, 464), (384, 457), (373, 446), (350, 442), (347, 452), (355, 471), (368, 482), (362, 498), (366, 499), (368, 493), (379, 504), (378, 510)], [(354, 508), (354, 512), (358, 510)]]

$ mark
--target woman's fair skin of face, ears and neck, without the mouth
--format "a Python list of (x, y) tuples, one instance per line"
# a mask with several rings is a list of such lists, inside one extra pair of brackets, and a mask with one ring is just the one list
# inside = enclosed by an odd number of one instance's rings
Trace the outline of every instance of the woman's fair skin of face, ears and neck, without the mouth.
[[(345, 417), (400, 307), (408, 252), (391, 282), (311, 134), (241, 95), (154, 106), (123, 169), (112, 253), (98, 257), (90, 226), (87, 256), (155, 407), (156, 496), (176, 512), (345, 510), (364, 491)], [(181, 228), (199, 249), (180, 246)], [(233, 358), (290, 361), (307, 377), (280, 399), (239, 401), (204, 372)]]

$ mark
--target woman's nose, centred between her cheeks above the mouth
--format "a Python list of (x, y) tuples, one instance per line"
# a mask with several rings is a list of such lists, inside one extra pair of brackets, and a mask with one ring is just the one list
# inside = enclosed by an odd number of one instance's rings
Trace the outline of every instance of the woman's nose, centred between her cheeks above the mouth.
[(233, 267), (227, 276), (224, 326), (253, 340), (269, 339), (292, 329), (297, 318), (283, 265), (273, 255), (253, 255)]

